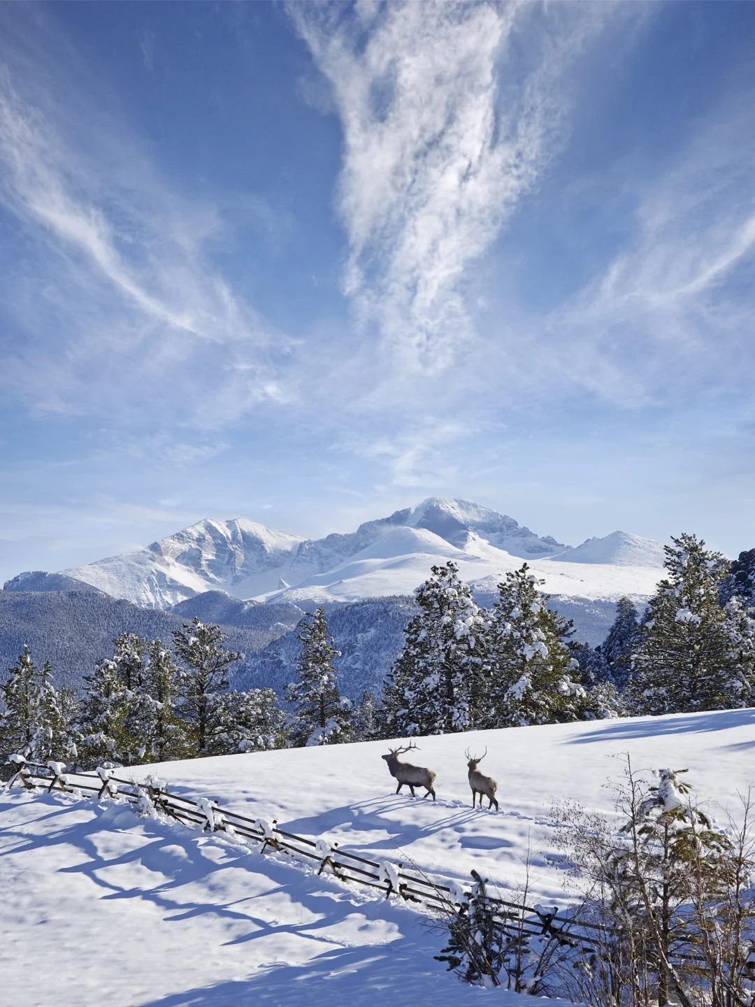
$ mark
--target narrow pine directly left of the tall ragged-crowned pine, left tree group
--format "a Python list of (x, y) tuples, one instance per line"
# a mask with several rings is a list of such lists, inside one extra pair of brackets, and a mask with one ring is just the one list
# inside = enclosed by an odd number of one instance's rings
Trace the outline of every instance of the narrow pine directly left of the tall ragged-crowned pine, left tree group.
[(162, 640), (153, 639), (147, 649), (147, 665), (142, 671), (141, 729), (146, 760), (163, 762), (187, 754), (184, 721), (179, 716), (181, 672)]

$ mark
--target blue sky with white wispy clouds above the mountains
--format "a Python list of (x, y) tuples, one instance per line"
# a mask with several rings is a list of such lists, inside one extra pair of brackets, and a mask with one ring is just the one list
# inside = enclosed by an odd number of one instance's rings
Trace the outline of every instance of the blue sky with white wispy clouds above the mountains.
[(457, 495), (755, 545), (755, 5), (0, 5), (0, 577)]

